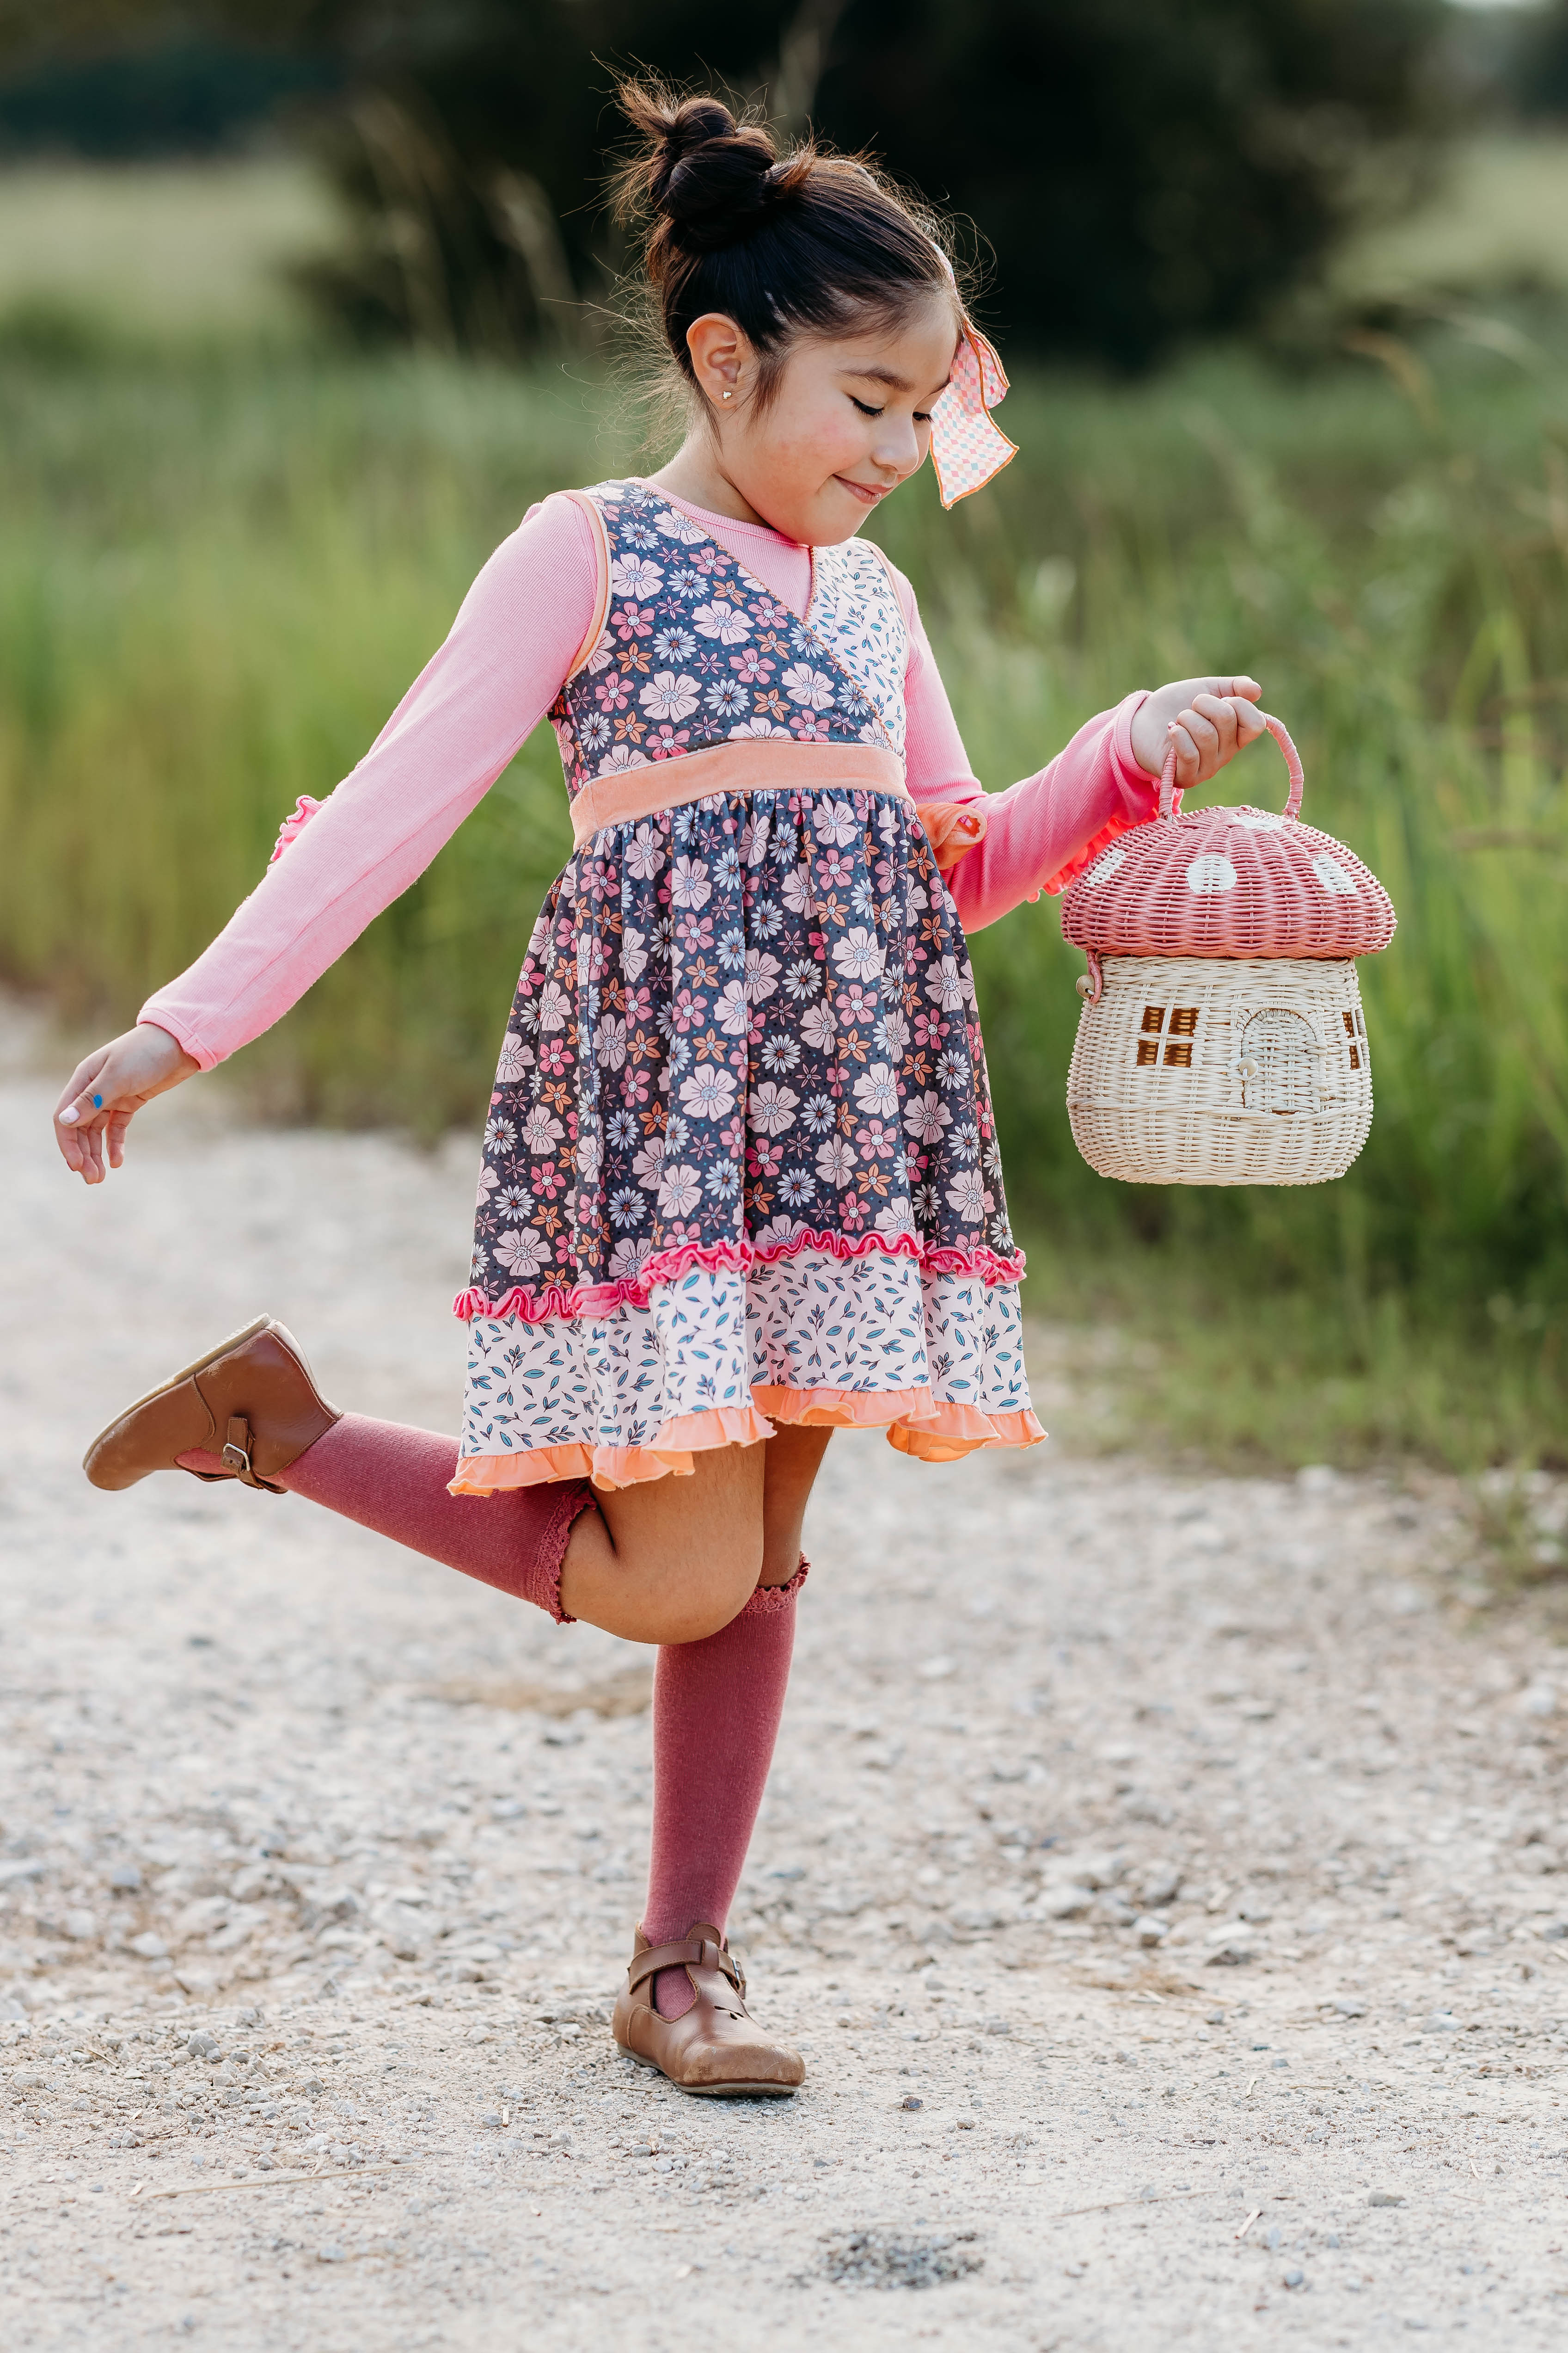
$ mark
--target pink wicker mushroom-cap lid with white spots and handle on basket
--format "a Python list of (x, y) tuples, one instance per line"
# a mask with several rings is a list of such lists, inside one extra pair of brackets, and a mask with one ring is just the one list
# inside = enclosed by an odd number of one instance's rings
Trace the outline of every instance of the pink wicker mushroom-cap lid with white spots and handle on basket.
[(1063, 899), (1063, 936), (1095, 955), (1375, 955), (1394, 908), (1375, 873), (1333, 833), (1302, 826), (1295, 744), (1265, 718), (1291, 769), (1284, 816), (1180, 814), (1166, 762), (1157, 819), (1133, 826)]

